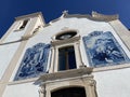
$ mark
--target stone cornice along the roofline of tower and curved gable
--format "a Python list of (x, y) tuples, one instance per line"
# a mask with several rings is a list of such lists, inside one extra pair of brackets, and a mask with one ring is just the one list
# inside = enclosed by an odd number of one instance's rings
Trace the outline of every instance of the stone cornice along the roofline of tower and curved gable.
[(43, 27), (48, 27), (51, 24), (53, 24), (53, 23), (55, 23), (55, 22), (57, 22), (57, 20), (60, 20), (62, 18), (77, 17), (77, 18), (88, 18), (88, 19), (95, 20), (95, 22), (110, 22), (110, 20), (115, 20), (115, 19), (119, 18), (118, 14), (104, 15), (104, 14), (100, 14), (98, 12), (92, 12), (91, 15), (89, 15), (89, 14), (68, 14), (68, 11), (64, 11), (63, 14), (60, 17), (51, 20), (49, 24), (46, 24), (41, 12), (37, 12), (37, 13), (28, 14), (28, 15), (23, 15), (23, 16), (17, 16), (17, 17), (15, 17), (15, 19), (16, 20), (23, 19), (23, 18), (26, 19), (26, 18), (35, 17), (35, 16), (40, 17), (41, 22), (43, 23)]

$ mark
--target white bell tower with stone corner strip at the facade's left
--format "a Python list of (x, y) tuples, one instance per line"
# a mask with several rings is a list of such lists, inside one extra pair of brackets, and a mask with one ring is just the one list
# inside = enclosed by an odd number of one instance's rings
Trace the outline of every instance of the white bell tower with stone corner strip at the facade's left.
[(9, 84), (14, 68), (28, 41), (40, 28), (44, 19), (40, 12), (15, 17), (15, 22), (0, 40), (0, 97)]

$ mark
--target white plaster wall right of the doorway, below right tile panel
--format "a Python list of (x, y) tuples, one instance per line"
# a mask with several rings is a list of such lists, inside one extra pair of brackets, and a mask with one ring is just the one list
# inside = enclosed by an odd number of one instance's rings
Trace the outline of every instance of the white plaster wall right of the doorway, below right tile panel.
[(130, 97), (130, 69), (95, 72), (98, 97)]

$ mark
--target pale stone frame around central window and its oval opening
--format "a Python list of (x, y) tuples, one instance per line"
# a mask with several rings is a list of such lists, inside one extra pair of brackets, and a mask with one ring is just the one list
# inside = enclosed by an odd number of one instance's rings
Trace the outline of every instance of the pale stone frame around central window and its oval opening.
[[(65, 40), (57, 40), (56, 36), (63, 34), (65, 32), (77, 32), (76, 36), (65, 39)], [(67, 46), (74, 46), (75, 51), (75, 57), (76, 57), (76, 66), (77, 68), (80, 68), (80, 66), (83, 66), (82, 64), (82, 58), (81, 58), (81, 53), (80, 53), (80, 34), (78, 30), (75, 29), (69, 29), (69, 30), (64, 30), (61, 31), (52, 37), (51, 41), (51, 52), (52, 52), (52, 58), (51, 58), (51, 65), (50, 65), (50, 70), (49, 72), (57, 72), (58, 68), (58, 48), (61, 47), (67, 47)]]

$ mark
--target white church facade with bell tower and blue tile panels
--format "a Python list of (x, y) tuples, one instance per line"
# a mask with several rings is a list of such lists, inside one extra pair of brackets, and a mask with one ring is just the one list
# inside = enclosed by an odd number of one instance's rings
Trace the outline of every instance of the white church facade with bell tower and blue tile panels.
[(0, 39), (0, 97), (129, 97), (129, 36), (118, 15), (18, 16)]

